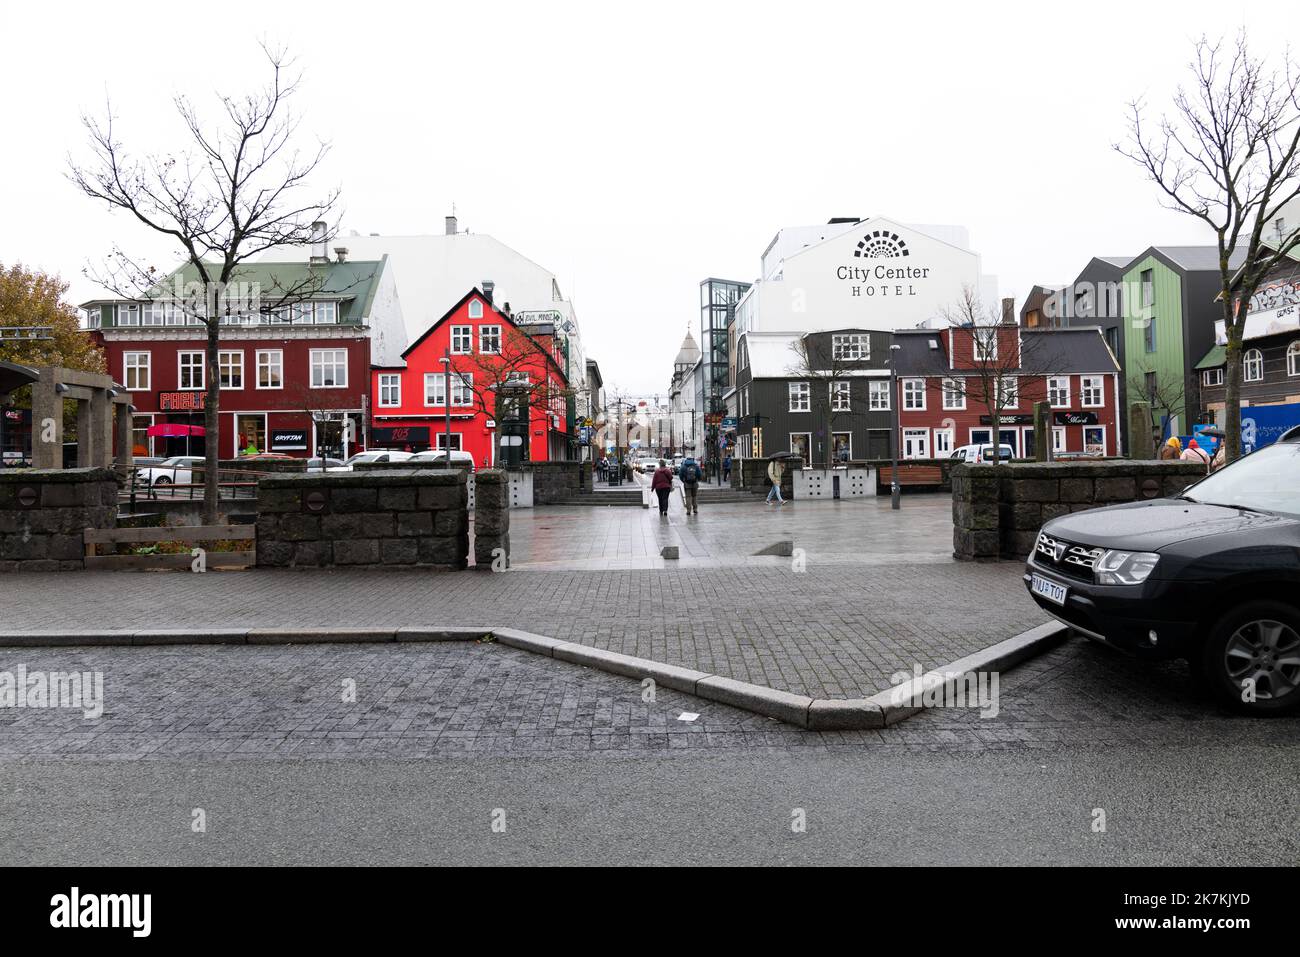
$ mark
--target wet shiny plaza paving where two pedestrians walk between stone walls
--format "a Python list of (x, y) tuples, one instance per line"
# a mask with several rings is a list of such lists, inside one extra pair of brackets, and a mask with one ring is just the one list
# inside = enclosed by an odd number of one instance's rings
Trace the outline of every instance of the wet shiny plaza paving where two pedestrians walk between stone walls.
[[(887, 497), (828, 502), (702, 502), (686, 515), (679, 492), (668, 518), (634, 506), (549, 506), (511, 512), (511, 562), (517, 568), (715, 568), (770, 567), (757, 551), (793, 541), (810, 566), (953, 563), (950, 495)], [(679, 559), (660, 549), (676, 545)], [(788, 562), (786, 562), (788, 564)]]

